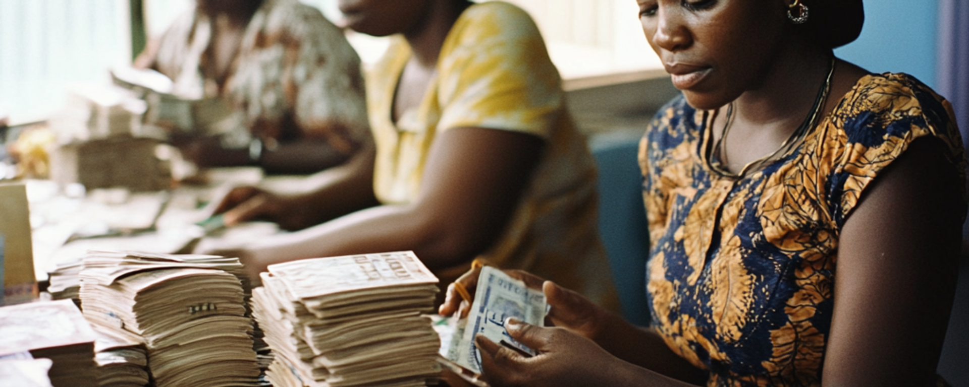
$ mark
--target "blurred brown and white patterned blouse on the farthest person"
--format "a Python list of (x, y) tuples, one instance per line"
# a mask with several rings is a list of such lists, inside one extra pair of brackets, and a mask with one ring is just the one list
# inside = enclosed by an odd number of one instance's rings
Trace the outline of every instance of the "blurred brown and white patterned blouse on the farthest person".
[(212, 21), (192, 7), (162, 35), (149, 65), (172, 78), (173, 94), (231, 105), (229, 124), (207, 128), (228, 134), (224, 144), (246, 145), (252, 135), (279, 141), (317, 136), (349, 154), (370, 140), (357, 51), (319, 10), (297, 0), (264, 0), (221, 89), (201, 71), (211, 36)]

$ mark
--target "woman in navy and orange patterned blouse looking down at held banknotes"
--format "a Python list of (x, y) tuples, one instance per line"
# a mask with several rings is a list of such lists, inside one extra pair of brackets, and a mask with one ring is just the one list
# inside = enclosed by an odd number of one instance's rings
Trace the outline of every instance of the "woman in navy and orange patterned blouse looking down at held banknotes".
[[(495, 386), (935, 386), (965, 216), (951, 105), (832, 48), (861, 0), (639, 0), (682, 96), (641, 140), (652, 325), (551, 306), (482, 336)], [(645, 236), (643, 236), (645, 237)], [(449, 288), (443, 314), (466, 309)], [(461, 311), (463, 313), (463, 311)]]

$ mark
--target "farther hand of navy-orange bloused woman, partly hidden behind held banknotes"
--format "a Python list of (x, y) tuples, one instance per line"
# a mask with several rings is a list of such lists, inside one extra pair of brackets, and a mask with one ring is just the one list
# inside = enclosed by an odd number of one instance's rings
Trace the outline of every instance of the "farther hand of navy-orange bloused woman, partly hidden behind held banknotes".
[[(521, 270), (503, 270), (503, 272), (530, 288), (542, 289), (550, 307), (546, 315), (546, 324), (549, 326), (566, 328), (595, 341), (606, 321), (610, 318), (621, 319), (581, 294), (534, 274)], [(471, 300), (474, 300), (480, 274), (481, 268), (472, 268), (454, 283), (462, 284), (468, 290)], [(471, 301), (463, 299), (454, 283), (448, 286), (444, 304), (441, 304), (438, 313), (441, 315), (457, 313), (460, 317), (465, 317), (471, 311)]]

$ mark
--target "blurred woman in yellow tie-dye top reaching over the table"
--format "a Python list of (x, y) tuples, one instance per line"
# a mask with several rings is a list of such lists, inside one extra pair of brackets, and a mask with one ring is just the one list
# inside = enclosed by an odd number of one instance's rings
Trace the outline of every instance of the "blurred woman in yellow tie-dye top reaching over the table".
[(341, 1), (392, 37), (367, 74), (375, 147), (299, 194), (236, 190), (229, 223), (300, 231), (245, 246), (250, 271), (292, 259), (413, 250), (440, 278), (482, 257), (615, 308), (596, 225), (595, 165), (534, 22), (501, 2)]

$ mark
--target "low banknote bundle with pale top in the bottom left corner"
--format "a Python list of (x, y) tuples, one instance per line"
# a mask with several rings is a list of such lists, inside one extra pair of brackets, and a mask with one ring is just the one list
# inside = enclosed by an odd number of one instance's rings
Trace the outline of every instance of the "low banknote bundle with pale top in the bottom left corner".
[[(54, 387), (97, 386), (94, 331), (71, 301), (0, 308), (0, 356), (46, 358)], [(6, 384), (5, 384), (6, 385)]]

